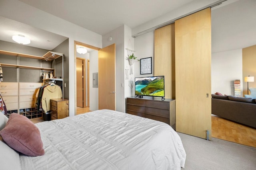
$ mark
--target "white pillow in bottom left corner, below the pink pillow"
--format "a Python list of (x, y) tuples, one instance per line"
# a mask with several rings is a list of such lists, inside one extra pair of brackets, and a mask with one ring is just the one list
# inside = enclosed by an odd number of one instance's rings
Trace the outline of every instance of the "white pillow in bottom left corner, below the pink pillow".
[[(2, 113), (0, 113), (2, 114)], [(21, 170), (18, 152), (10, 148), (0, 136), (0, 168), (2, 170)]]

